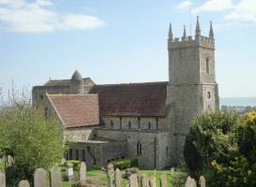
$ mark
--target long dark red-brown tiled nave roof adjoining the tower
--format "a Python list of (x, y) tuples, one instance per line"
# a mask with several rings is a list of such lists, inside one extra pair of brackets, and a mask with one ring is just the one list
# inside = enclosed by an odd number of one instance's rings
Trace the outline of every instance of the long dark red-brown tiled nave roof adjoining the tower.
[(165, 116), (167, 83), (95, 85), (100, 116)]

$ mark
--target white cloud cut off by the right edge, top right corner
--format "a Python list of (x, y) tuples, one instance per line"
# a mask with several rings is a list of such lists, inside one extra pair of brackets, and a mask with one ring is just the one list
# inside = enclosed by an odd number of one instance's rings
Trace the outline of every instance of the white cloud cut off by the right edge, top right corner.
[(256, 1), (241, 0), (225, 19), (229, 22), (256, 22)]

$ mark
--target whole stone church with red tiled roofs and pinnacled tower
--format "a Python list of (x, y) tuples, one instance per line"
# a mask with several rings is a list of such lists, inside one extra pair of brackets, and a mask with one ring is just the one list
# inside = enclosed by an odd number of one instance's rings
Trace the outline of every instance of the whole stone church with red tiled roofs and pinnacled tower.
[(87, 165), (137, 158), (143, 168), (161, 169), (183, 160), (183, 147), (194, 117), (218, 108), (215, 39), (168, 38), (169, 80), (97, 84), (75, 71), (71, 79), (49, 79), (33, 88), (33, 104), (45, 116), (56, 115), (68, 141), (66, 159)]

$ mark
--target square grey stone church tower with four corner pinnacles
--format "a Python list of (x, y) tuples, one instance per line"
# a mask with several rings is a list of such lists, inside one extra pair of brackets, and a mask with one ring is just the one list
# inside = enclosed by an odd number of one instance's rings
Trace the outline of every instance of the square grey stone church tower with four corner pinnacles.
[(167, 105), (172, 163), (183, 161), (185, 138), (193, 119), (203, 111), (218, 108), (218, 84), (215, 78), (215, 39), (212, 22), (209, 36), (201, 35), (197, 17), (195, 36), (173, 39), (172, 25), (168, 38), (169, 84)]

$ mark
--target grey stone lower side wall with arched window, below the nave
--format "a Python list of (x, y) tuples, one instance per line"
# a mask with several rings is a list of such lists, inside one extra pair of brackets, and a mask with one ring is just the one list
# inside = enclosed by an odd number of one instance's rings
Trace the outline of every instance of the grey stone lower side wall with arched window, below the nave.
[[(137, 158), (139, 164), (144, 168), (160, 169), (170, 165), (171, 150), (166, 153), (166, 147), (170, 147), (169, 133), (160, 130), (135, 129), (96, 129), (97, 137), (113, 139), (115, 141), (127, 141), (126, 147), (121, 147), (122, 151), (127, 151), (127, 156)], [(142, 154), (137, 152), (137, 143), (142, 144)], [(156, 142), (156, 143), (155, 143)], [(156, 151), (155, 151), (156, 150)], [(156, 159), (155, 159), (156, 157)]]

